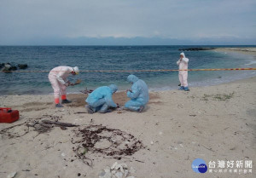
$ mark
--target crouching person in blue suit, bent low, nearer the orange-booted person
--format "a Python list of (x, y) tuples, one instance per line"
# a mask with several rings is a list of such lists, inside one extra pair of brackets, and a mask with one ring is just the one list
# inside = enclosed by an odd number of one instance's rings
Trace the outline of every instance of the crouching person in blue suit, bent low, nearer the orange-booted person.
[(85, 100), (87, 112), (92, 114), (94, 112), (111, 112), (109, 107), (117, 107), (118, 105), (113, 102), (112, 95), (118, 90), (115, 84), (103, 86), (95, 89)]

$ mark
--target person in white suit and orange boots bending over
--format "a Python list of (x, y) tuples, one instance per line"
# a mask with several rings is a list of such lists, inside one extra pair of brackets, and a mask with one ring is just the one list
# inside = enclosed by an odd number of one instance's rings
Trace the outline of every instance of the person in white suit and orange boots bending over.
[(70, 100), (67, 100), (67, 86), (74, 85), (73, 83), (67, 80), (67, 77), (70, 75), (79, 74), (79, 67), (70, 67), (70, 66), (56, 66), (49, 72), (49, 82), (51, 83), (52, 88), (54, 89), (55, 95), (55, 106), (63, 107), (60, 104), (60, 95), (62, 103), (70, 103)]

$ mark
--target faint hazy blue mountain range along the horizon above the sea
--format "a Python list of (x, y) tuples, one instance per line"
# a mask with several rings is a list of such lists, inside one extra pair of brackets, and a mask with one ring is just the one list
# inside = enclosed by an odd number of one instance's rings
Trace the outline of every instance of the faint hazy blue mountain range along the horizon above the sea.
[(40, 37), (0, 45), (256, 45), (255, 38), (216, 37), (175, 39), (163, 37)]

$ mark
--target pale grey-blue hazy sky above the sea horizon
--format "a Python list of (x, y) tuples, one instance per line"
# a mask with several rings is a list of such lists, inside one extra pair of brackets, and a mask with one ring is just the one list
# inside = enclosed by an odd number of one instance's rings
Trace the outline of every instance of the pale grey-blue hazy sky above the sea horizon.
[(256, 45), (256, 0), (0, 0), (0, 45)]

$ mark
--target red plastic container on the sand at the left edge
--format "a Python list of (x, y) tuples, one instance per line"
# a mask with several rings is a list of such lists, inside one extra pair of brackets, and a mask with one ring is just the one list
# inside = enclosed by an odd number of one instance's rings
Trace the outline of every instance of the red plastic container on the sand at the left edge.
[(0, 123), (13, 123), (20, 118), (18, 110), (9, 107), (0, 107)]

